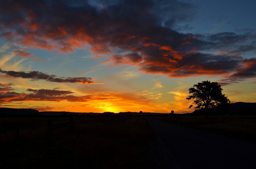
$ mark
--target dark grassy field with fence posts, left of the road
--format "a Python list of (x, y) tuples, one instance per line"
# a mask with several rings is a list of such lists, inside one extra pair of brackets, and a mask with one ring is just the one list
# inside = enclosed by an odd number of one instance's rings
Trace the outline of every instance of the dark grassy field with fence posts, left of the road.
[[(68, 118), (49, 118), (53, 122)], [(47, 131), (47, 118), (0, 119), (0, 166), (4, 168), (150, 168), (147, 148), (155, 139), (138, 117), (74, 118), (68, 126)], [(19, 139), (15, 122), (19, 122)], [(13, 127), (14, 126), (14, 127)]]

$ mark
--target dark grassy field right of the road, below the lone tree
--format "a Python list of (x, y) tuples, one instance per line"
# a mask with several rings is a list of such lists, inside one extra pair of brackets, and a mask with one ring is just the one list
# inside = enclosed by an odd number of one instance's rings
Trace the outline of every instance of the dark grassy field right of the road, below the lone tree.
[[(166, 122), (171, 116), (154, 117)], [(173, 124), (256, 143), (256, 116), (173, 116)]]

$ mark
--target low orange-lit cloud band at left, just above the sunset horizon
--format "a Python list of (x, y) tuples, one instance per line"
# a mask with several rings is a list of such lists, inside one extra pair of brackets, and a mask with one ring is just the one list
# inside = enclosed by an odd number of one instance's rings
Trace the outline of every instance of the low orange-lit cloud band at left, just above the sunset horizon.
[(71, 91), (58, 91), (50, 89), (27, 89), (32, 93), (17, 93), (17, 92), (0, 92), (0, 104), (10, 103), (13, 101), (70, 101), (70, 102), (86, 102), (86, 101), (101, 101), (113, 100), (113, 96), (73, 96), (69, 95)]

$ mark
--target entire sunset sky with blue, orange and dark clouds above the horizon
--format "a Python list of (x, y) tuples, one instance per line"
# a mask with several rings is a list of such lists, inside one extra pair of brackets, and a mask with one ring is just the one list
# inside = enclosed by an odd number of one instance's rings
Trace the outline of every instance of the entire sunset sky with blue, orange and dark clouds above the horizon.
[(256, 102), (255, 0), (0, 2), (0, 107), (186, 113), (218, 82)]

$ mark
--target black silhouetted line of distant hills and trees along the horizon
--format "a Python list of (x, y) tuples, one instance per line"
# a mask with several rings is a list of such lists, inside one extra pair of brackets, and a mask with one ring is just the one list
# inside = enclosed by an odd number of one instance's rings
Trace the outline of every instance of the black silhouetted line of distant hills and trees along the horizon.
[[(245, 103), (236, 102), (229, 104), (229, 109), (214, 108), (207, 110), (208, 115), (256, 115), (256, 103)], [(192, 113), (185, 114), (174, 114), (174, 115), (204, 115), (205, 112), (202, 110), (197, 110)], [(168, 116), (170, 113), (151, 113), (143, 112), (143, 116)], [(0, 107), (0, 118), (6, 117), (113, 117), (113, 116), (140, 116), (139, 112), (104, 112), (104, 113), (77, 113), (77, 112), (67, 112), (67, 111), (42, 111), (34, 109), (14, 109), (14, 108), (4, 108)]]

